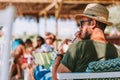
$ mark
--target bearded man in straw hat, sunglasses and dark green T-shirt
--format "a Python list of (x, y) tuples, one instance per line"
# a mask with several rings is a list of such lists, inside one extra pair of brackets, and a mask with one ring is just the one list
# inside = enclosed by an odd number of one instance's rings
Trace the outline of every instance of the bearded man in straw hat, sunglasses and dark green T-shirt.
[(118, 57), (113, 44), (106, 41), (104, 29), (108, 22), (108, 10), (100, 4), (88, 4), (80, 19), (82, 41), (74, 42), (67, 52), (60, 50), (52, 70), (52, 79), (57, 80), (57, 73), (84, 72), (88, 63), (100, 59), (108, 60)]

